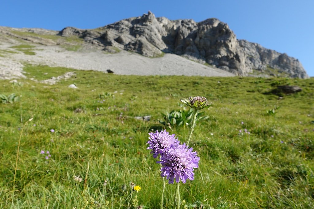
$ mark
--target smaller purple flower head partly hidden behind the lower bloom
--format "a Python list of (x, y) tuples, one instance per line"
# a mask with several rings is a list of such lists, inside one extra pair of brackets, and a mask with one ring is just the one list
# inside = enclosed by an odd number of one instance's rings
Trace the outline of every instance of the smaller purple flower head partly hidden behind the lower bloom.
[(150, 137), (147, 142), (149, 145), (147, 149), (152, 150), (150, 153), (153, 154), (154, 158), (156, 158), (159, 154), (163, 154), (166, 148), (180, 143), (178, 138), (175, 138), (175, 134), (169, 135), (169, 132), (166, 132), (166, 130), (148, 134)]

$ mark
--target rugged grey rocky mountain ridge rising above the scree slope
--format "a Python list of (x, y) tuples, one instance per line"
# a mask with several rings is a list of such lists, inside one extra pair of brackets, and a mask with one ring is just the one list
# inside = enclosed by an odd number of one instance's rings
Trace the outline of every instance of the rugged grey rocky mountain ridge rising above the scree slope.
[(266, 69), (269, 65), (292, 77), (307, 77), (298, 60), (259, 44), (237, 40), (229, 26), (215, 18), (196, 23), (156, 18), (149, 11), (141, 17), (93, 30), (68, 27), (59, 35), (77, 35), (110, 52), (113, 49), (129, 50), (147, 57), (174, 53), (241, 76), (248, 75), (252, 69)]

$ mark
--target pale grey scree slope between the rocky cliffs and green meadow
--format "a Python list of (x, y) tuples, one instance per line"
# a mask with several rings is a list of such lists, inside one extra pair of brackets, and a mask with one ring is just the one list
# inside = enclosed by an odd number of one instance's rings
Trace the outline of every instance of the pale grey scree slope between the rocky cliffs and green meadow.
[[(0, 50), (14, 50), (8, 48), (10, 46), (12, 45), (0, 45)], [(36, 46), (34, 49), (36, 55), (25, 55), (19, 52), (18, 54), (6, 53), (5, 57), (0, 57), (0, 79), (24, 77), (23, 63), (103, 72), (110, 69), (119, 75), (235, 76), (174, 54), (148, 58), (127, 51), (106, 54), (101, 50), (74, 52), (64, 50), (59, 46)]]

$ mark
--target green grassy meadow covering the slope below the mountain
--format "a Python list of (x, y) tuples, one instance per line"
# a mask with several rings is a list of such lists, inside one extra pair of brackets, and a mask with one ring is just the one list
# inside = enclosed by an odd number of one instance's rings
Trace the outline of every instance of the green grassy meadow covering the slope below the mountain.
[[(200, 162), (195, 180), (181, 183), (181, 208), (314, 208), (313, 78), (120, 76), (31, 65), (24, 71), (28, 78), (18, 83), (0, 81), (0, 94), (20, 96), (0, 101), (0, 208), (160, 208), (160, 165), (146, 149), (148, 133), (166, 128), (185, 142), (187, 125), (159, 120), (189, 96), (216, 106), (201, 110), (209, 118), (193, 132)], [(30, 80), (68, 71), (76, 77), (56, 85)], [(302, 91), (272, 93), (284, 84)], [(150, 121), (134, 118), (147, 115)], [(19, 137), (30, 118), (13, 196)], [(172, 208), (175, 187), (166, 185), (164, 208)]]

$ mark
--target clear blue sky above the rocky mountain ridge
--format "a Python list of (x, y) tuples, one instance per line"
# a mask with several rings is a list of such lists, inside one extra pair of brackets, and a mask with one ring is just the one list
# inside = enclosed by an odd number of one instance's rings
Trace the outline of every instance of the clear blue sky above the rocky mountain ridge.
[(314, 0), (0, 0), (0, 25), (92, 29), (148, 10), (172, 20), (218, 18), (238, 39), (287, 53), (314, 76)]

